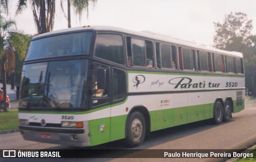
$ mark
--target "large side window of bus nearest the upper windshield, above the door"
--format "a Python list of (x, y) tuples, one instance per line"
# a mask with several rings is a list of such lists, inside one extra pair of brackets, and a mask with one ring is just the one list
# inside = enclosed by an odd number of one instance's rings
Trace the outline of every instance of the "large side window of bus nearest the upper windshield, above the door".
[(114, 34), (98, 34), (95, 56), (118, 64), (124, 64), (124, 45), (122, 36)]

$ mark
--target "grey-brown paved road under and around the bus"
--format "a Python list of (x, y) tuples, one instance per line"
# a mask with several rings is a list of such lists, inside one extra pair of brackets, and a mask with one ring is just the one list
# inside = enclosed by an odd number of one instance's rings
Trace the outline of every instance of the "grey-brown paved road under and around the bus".
[[(233, 118), (220, 125), (208, 125), (204, 121), (155, 131), (141, 146), (136, 149), (242, 149), (256, 144), (256, 103), (246, 100), (246, 108), (233, 114)], [(92, 147), (93, 149), (124, 149), (123, 141), (114, 141)], [(20, 133), (0, 135), (0, 149), (76, 149), (74, 147), (40, 142), (24, 141)], [(88, 149), (88, 148), (82, 148)], [(90, 148), (91, 149), (91, 148)], [(104, 151), (104, 150), (103, 150)], [(103, 154), (104, 152), (102, 152)], [(110, 151), (112, 154), (116, 152)], [(100, 154), (99, 154), (99, 157)], [(63, 159), (62, 159), (63, 160)], [(84, 159), (77, 159), (84, 161)], [(98, 161), (99, 159), (90, 159)], [(130, 161), (132, 159), (115, 158), (101, 161)], [(134, 159), (133, 161), (141, 161)], [(148, 159), (165, 161), (167, 159)], [(168, 159), (170, 161), (170, 159)], [(192, 159), (192, 161), (220, 161), (219, 159)], [(1, 160), (0, 160), (1, 161)], [(56, 160), (55, 160), (56, 161)], [(69, 161), (66, 159), (65, 161)], [(72, 161), (72, 160), (71, 160)], [(172, 159), (188, 161), (188, 159)], [(191, 161), (191, 160), (190, 160)]]

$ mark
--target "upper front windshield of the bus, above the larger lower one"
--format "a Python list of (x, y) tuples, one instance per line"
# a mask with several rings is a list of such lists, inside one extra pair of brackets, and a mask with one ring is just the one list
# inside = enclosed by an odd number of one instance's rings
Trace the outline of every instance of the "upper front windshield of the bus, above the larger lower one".
[(31, 41), (25, 61), (89, 54), (92, 32), (70, 33)]

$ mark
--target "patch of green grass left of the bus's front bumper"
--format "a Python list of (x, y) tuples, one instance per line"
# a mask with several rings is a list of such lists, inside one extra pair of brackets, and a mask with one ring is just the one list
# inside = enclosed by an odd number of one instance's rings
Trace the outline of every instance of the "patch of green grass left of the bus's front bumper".
[(18, 109), (9, 109), (8, 112), (0, 112), (0, 131), (18, 129)]

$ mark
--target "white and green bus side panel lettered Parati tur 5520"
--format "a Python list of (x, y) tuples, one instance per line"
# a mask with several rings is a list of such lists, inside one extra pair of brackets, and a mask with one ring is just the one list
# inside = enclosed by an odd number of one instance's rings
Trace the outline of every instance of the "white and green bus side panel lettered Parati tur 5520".
[[(231, 98), (234, 113), (244, 109), (242, 76), (142, 74), (130, 71), (128, 80), (129, 92), (137, 94), (131, 96), (134, 98), (131, 102), (144, 105), (150, 111), (151, 131), (210, 119), (217, 99), (224, 103)], [(140, 93), (146, 95), (138, 96)], [(140, 100), (136, 102), (136, 98)]]

